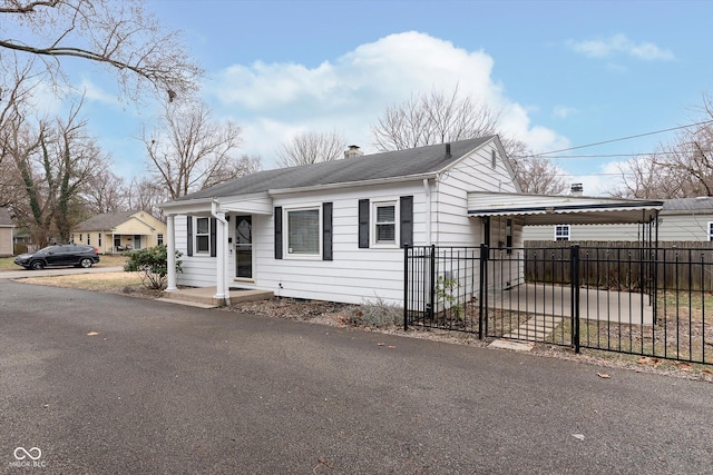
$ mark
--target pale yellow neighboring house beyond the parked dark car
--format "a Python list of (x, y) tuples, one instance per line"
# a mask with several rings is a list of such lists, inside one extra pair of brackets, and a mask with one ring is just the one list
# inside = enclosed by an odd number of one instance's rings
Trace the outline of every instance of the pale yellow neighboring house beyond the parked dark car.
[(72, 230), (71, 240), (99, 249), (123, 253), (164, 244), (166, 224), (146, 211), (105, 212), (87, 219)]

